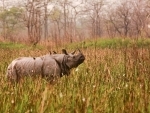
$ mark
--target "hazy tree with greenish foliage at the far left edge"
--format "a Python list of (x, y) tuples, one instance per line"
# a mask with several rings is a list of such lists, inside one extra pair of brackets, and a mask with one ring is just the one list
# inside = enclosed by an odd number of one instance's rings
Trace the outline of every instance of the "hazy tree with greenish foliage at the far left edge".
[(11, 39), (15, 31), (19, 30), (19, 23), (22, 16), (22, 9), (11, 7), (0, 13), (0, 21), (2, 21), (2, 36), (4, 39)]

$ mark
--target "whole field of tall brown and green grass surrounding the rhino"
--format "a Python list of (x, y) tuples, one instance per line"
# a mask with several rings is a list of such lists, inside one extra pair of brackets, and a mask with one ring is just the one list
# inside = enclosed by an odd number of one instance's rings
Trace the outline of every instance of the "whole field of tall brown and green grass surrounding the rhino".
[(40, 77), (10, 84), (5, 73), (13, 59), (48, 50), (0, 42), (0, 113), (150, 113), (149, 39), (98, 39), (64, 45), (57, 52), (76, 47), (85, 62), (54, 85)]

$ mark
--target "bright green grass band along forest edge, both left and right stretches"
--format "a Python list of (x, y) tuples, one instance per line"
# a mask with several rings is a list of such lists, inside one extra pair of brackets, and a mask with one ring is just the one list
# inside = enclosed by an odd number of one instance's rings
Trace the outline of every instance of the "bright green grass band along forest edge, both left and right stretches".
[[(74, 49), (74, 48), (124, 48), (124, 47), (149, 47), (150, 46), (150, 39), (122, 39), (122, 38), (98, 38), (96, 40), (86, 40), (82, 42), (76, 42), (71, 44), (66, 44), (64, 48), (67, 49)], [(45, 45), (25, 45), (19, 43), (12, 43), (12, 42), (0, 42), (0, 48), (3, 49), (45, 49)]]

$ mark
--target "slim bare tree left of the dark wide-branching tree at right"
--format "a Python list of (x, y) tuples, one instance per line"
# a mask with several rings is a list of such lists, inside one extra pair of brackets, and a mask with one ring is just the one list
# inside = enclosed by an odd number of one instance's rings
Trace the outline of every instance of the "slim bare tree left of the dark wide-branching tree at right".
[(104, 6), (104, 0), (88, 0), (85, 3), (85, 11), (88, 12), (87, 15), (90, 17), (92, 37), (101, 37), (102, 35), (101, 21)]

